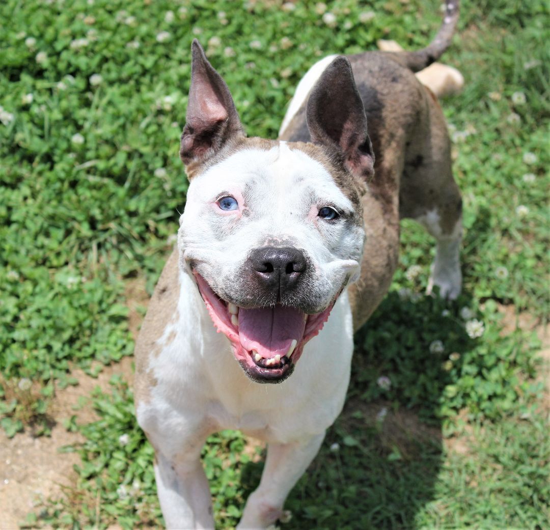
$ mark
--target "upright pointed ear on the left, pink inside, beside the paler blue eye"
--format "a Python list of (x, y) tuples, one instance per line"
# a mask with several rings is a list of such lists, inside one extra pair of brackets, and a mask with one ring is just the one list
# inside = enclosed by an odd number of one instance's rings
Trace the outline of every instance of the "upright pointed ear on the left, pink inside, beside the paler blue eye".
[(179, 155), (185, 164), (206, 159), (233, 135), (244, 136), (233, 98), (196, 39), (191, 45), (191, 86)]

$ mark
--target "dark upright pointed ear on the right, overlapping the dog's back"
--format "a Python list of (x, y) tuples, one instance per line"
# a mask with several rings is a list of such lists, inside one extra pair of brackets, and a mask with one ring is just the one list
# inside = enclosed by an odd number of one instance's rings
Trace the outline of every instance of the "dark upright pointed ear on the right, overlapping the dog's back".
[(311, 140), (337, 150), (351, 174), (374, 174), (365, 108), (348, 59), (335, 58), (321, 74), (307, 101), (306, 118)]

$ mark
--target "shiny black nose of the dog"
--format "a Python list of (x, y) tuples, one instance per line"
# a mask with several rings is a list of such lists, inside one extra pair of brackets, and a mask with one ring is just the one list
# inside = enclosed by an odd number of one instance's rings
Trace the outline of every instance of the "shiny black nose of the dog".
[(293, 247), (262, 247), (250, 254), (252, 272), (264, 288), (277, 291), (280, 296), (292, 289), (307, 263), (304, 253)]

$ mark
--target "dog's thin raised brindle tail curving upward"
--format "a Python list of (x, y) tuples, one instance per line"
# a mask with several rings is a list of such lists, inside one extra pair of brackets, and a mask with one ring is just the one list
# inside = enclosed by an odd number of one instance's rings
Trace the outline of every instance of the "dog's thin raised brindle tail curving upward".
[(458, 23), (458, 5), (459, 0), (445, 0), (443, 24), (430, 45), (416, 52), (390, 52), (393, 58), (414, 72), (423, 70), (439, 59), (449, 47)]

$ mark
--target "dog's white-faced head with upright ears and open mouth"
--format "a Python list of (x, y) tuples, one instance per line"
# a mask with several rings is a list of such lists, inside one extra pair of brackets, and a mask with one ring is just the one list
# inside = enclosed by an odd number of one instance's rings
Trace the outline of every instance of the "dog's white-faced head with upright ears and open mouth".
[(365, 111), (338, 57), (307, 104), (312, 143), (249, 139), (226, 83), (197, 41), (192, 50), (180, 266), (246, 374), (278, 383), (359, 277), (373, 172)]

